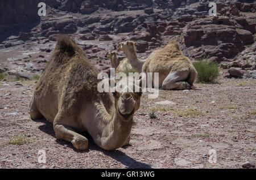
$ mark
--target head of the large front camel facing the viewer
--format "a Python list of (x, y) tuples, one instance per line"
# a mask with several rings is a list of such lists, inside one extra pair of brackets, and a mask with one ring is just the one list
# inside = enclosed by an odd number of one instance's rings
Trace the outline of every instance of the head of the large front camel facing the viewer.
[[(127, 85), (121, 85), (123, 83)], [(129, 86), (129, 84), (133, 84), (133, 86)], [(133, 118), (134, 113), (139, 109), (142, 95), (141, 85), (142, 80), (135, 83), (134, 78), (128, 76), (127, 78), (119, 80), (115, 86), (116, 88), (117, 86), (122, 87), (121, 91), (115, 91), (113, 95), (115, 98), (115, 109), (121, 119), (125, 122), (130, 121)], [(129, 89), (133, 92), (129, 92)], [(136, 92), (137, 90), (138, 92)]]

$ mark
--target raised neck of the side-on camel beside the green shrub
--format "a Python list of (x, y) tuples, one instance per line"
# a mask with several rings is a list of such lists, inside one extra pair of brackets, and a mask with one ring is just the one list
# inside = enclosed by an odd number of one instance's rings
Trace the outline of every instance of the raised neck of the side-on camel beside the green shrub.
[(130, 50), (129, 52), (126, 52), (125, 54), (126, 54), (126, 57), (129, 59), (131, 67), (133, 67), (135, 71), (141, 73), (144, 62), (146, 62), (146, 61), (138, 59), (137, 54), (134, 50)]

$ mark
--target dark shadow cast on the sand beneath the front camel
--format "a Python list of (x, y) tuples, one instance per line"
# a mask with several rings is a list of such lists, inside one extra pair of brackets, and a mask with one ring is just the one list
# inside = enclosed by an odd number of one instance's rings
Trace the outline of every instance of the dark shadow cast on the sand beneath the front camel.
[[(55, 132), (53, 130), (53, 126), (52, 123), (48, 122), (45, 118), (42, 119), (32, 119), (35, 122), (42, 122), (44, 123), (44, 125), (39, 126), (39, 130), (42, 132), (45, 132), (48, 135), (51, 135), (53, 138), (55, 138)], [(79, 132), (81, 135), (85, 136), (88, 141), (89, 141), (89, 148), (86, 151), (79, 151), (76, 148), (73, 147), (72, 143), (70, 142), (66, 142), (65, 140), (61, 140), (61, 139), (56, 139), (56, 143), (61, 144), (61, 145), (65, 145), (67, 144), (67, 147), (72, 148), (73, 151), (75, 152), (83, 152), (83, 153), (87, 153), (89, 151), (100, 151), (102, 153), (104, 153), (106, 156), (110, 156), (113, 159), (121, 162), (123, 165), (127, 166), (128, 169), (134, 169), (134, 168), (142, 168), (142, 169), (151, 169), (151, 166), (148, 164), (145, 164), (143, 162), (139, 162), (134, 160), (134, 158), (127, 156), (125, 153), (123, 153), (122, 151), (117, 150), (113, 150), (113, 151), (106, 151), (100, 147), (98, 147), (92, 137), (87, 133), (87, 132)]]

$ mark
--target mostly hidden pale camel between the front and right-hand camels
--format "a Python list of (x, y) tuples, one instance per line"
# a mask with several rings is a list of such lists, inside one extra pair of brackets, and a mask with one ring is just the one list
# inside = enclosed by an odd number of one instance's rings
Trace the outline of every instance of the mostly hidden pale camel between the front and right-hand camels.
[[(126, 73), (129, 73), (129, 72), (136, 72), (133, 67), (131, 67), (131, 64), (129, 62), (129, 60), (127, 58), (124, 58), (122, 61), (119, 62), (119, 65), (118, 65), (118, 62), (117, 62), (117, 57), (118, 53), (117, 52), (110, 52), (108, 53), (108, 58), (110, 59), (110, 62), (111, 62), (111, 66), (113, 68), (115, 68), (115, 74), (118, 74), (119, 72), (126, 72)], [(118, 66), (117, 66), (118, 65)], [(127, 74), (129, 75), (129, 74)]]

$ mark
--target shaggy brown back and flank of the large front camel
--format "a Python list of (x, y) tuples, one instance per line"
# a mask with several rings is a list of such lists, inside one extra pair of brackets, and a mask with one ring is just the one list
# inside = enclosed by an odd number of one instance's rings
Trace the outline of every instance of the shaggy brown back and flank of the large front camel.
[(53, 121), (60, 108), (74, 109), (84, 98), (97, 93), (97, 68), (79, 46), (72, 44), (72, 50), (62, 45), (61, 49), (60, 43), (34, 92), (36, 106), (48, 121)]

